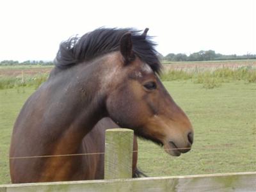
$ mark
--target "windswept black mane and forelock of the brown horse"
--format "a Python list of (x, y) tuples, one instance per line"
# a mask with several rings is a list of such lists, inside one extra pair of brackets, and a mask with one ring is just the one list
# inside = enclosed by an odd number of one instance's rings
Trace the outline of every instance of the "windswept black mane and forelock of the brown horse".
[(127, 32), (132, 35), (134, 54), (159, 74), (161, 63), (157, 57), (157, 51), (154, 49), (156, 44), (150, 40), (150, 36), (141, 35), (141, 31), (132, 28), (99, 28), (86, 33), (81, 38), (77, 36), (69, 38), (60, 44), (54, 64), (57, 68), (65, 69), (82, 61), (92, 60), (102, 54), (118, 51), (120, 39)]

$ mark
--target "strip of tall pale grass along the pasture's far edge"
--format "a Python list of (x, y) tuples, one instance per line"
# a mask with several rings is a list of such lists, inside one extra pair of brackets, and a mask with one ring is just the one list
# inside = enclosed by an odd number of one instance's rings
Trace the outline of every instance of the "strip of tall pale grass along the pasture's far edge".
[[(17, 88), (21, 86), (33, 86), (38, 88), (40, 84), (46, 81), (49, 74), (39, 73), (26, 76), (0, 76), (0, 90), (6, 88)], [(193, 83), (202, 84), (203, 88), (211, 89), (221, 86), (221, 83), (227, 83), (234, 80), (244, 80), (248, 83), (256, 83), (256, 68), (244, 66), (236, 69), (217, 68), (213, 71), (200, 71), (194, 68), (191, 71), (186, 70), (168, 70), (161, 74), (162, 81), (176, 81), (192, 79)]]

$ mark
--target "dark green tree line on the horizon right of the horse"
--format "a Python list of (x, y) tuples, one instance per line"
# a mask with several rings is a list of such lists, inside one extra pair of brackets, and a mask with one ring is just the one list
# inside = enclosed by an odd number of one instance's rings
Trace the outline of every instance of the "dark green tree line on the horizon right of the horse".
[(166, 56), (161, 57), (165, 61), (218, 61), (218, 60), (255, 60), (256, 54), (246, 54), (242, 56), (237, 56), (236, 54), (220, 54), (215, 51), (199, 51), (194, 52), (187, 56), (183, 53), (169, 53)]

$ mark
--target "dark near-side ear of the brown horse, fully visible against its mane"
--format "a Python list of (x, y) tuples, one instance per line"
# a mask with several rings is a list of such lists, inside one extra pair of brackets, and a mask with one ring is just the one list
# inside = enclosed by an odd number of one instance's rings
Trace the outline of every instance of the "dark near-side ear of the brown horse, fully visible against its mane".
[(128, 64), (134, 59), (134, 54), (132, 52), (132, 40), (131, 33), (125, 33), (120, 40), (120, 52), (124, 57), (125, 64)]

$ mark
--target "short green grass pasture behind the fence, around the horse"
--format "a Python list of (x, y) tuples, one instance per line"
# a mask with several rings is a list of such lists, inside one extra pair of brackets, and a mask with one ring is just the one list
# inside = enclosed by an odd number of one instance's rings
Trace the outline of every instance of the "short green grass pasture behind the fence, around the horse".
[[(195, 144), (188, 154), (172, 157), (154, 143), (140, 140), (138, 167), (143, 172), (153, 177), (256, 171), (256, 84), (225, 79), (211, 89), (195, 83), (193, 77), (165, 79), (164, 86), (193, 124)], [(29, 84), (0, 90), (0, 184), (10, 183), (13, 123), (34, 91)]]

